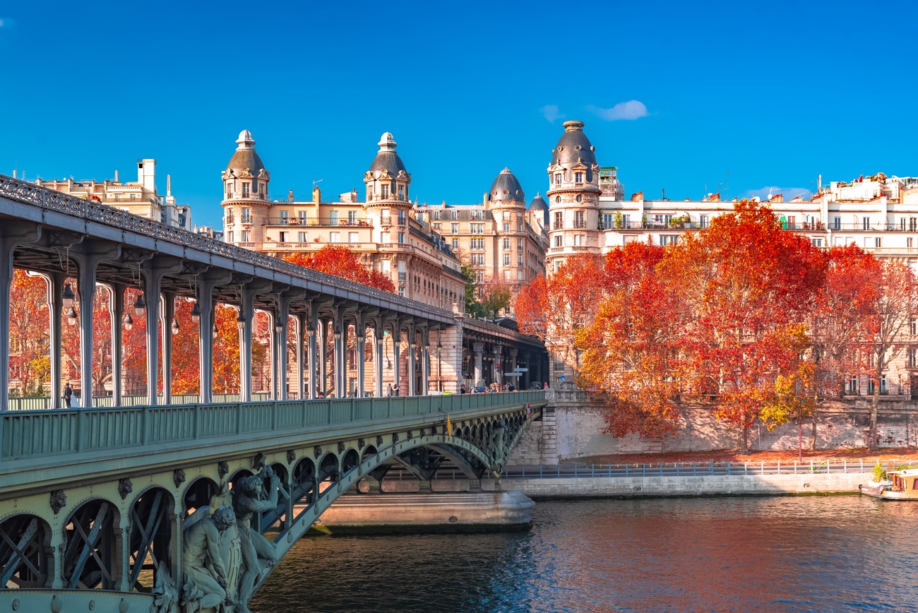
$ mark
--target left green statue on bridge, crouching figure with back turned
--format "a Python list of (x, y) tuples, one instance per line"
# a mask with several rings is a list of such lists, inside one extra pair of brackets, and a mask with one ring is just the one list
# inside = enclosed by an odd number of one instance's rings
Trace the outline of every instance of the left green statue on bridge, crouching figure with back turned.
[[(211, 515), (201, 509), (185, 523), (182, 534), (182, 567), (185, 570), (183, 604), (185, 610), (218, 607), (227, 601), (227, 572), (220, 554), (220, 537), (235, 525), (231, 508), (219, 507)], [(191, 521), (197, 518), (196, 521)], [(231, 604), (231, 602), (229, 602)]]

